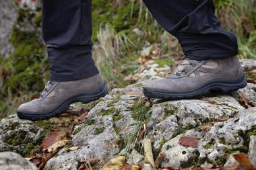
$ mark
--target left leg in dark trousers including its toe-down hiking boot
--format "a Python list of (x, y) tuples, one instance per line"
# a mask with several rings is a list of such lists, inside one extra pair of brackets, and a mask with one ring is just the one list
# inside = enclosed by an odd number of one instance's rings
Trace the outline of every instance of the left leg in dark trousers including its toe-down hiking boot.
[(51, 77), (38, 99), (20, 105), (22, 119), (51, 118), (108, 92), (92, 60), (91, 0), (44, 0), (42, 25)]

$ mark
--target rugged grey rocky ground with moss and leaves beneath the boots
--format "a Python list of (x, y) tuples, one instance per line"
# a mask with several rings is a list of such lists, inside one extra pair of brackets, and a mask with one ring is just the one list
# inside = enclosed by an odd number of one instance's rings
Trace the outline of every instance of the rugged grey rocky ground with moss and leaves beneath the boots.
[[(251, 83), (230, 94), (147, 99), (143, 80), (170, 71), (152, 64), (135, 73), (138, 83), (87, 105), (75, 103), (57, 118), (31, 122), (9, 116), (0, 122), (0, 169), (110, 169), (106, 165), (115, 163), (106, 163), (113, 157), (122, 163), (112, 169), (216, 168), (237, 164), (235, 153), (247, 154), (256, 166), (256, 60), (241, 62)], [(143, 150), (145, 138), (152, 142), (153, 163)], [(57, 146), (47, 146), (49, 139)]]

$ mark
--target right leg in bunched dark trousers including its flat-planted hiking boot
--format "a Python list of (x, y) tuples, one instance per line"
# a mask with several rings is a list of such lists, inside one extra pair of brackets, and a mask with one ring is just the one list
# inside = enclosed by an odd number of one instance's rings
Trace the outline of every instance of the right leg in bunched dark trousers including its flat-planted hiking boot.
[(220, 28), (212, 0), (143, 0), (164, 29), (181, 43), (185, 60), (171, 75), (148, 81), (147, 97), (183, 99), (247, 85), (234, 34)]

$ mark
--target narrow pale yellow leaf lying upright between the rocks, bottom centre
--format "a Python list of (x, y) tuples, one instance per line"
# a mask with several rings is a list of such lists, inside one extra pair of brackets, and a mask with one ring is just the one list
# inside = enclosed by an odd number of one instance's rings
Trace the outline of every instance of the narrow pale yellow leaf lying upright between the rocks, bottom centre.
[(154, 156), (152, 151), (152, 144), (150, 138), (146, 137), (143, 142), (144, 153), (145, 153), (145, 161), (146, 163), (150, 163), (150, 165), (155, 168), (156, 164), (154, 162)]

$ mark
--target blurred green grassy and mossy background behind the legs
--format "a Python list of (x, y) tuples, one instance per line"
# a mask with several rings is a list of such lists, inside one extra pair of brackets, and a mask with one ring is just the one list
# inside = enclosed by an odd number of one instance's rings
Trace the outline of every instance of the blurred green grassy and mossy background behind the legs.
[[(141, 0), (92, 0), (94, 59), (108, 86), (124, 87), (139, 67), (141, 50), (152, 47), (159, 65), (172, 65), (183, 56), (177, 39), (165, 32)], [(215, 0), (222, 27), (238, 36), (239, 58), (256, 58), (255, 0)], [(118, 10), (117, 10), (118, 9)], [(37, 97), (49, 77), (49, 62), (40, 38), (41, 11), (19, 9), (10, 42), (15, 47), (0, 58), (0, 117), (15, 113), (20, 103)], [(20, 30), (31, 24), (34, 32)], [(139, 32), (136, 34), (136, 32)]]

